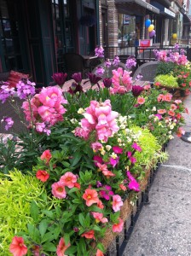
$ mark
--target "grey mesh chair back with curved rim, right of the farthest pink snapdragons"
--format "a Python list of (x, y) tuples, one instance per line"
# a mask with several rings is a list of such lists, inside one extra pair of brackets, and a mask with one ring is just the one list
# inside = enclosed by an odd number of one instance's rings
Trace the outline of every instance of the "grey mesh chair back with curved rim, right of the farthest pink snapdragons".
[(149, 81), (150, 84), (153, 84), (158, 65), (159, 61), (148, 61), (142, 64), (136, 69), (136, 72), (133, 75), (133, 80), (136, 80), (136, 76), (141, 73), (142, 81)]

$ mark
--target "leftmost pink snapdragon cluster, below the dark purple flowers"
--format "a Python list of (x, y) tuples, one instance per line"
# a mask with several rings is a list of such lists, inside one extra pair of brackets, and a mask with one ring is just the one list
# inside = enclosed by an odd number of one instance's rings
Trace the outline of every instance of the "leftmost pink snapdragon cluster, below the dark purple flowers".
[(62, 96), (62, 90), (56, 86), (43, 88), (41, 92), (32, 97), (30, 102), (23, 102), (22, 108), (30, 126), (35, 125), (38, 132), (49, 135), (49, 127), (63, 120), (63, 113), (67, 109), (62, 106), (67, 100)]

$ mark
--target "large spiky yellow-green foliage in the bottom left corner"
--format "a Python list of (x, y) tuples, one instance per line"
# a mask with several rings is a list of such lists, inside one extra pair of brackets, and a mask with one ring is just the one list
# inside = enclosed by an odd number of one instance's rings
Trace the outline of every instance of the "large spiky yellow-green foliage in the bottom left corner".
[(37, 207), (46, 207), (48, 202), (43, 184), (16, 169), (9, 175), (1, 175), (0, 183), (0, 255), (10, 255), (13, 237), (26, 231), (27, 224), (37, 222)]

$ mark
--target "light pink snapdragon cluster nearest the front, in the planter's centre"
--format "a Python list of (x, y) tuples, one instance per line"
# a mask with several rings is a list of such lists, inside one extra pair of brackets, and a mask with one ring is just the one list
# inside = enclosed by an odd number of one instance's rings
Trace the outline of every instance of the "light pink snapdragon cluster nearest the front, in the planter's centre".
[(90, 107), (86, 108), (84, 119), (81, 120), (81, 127), (75, 130), (75, 136), (88, 139), (91, 131), (96, 130), (96, 137), (107, 142), (108, 137), (119, 131), (116, 117), (119, 113), (112, 111), (110, 100), (105, 102), (91, 101)]

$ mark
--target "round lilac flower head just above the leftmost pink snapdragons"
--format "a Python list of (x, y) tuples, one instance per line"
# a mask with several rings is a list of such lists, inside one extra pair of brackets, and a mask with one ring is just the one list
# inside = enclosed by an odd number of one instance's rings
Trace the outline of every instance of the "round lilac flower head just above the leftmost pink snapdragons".
[(35, 95), (35, 85), (35, 83), (28, 79), (21, 79), (19, 83), (16, 84), (17, 95), (20, 97), (20, 100), (25, 100), (26, 97)]

